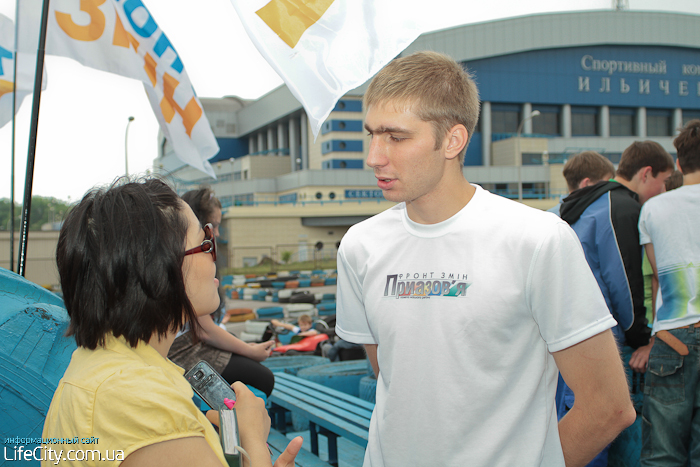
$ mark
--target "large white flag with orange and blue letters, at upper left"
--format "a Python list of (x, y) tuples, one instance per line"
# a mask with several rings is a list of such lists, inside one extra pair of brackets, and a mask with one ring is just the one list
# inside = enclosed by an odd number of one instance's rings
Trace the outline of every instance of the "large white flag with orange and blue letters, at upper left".
[[(20, 2), (23, 26), (25, 18), (33, 18), (28, 24), (38, 27), (37, 3)], [(20, 28), (20, 47), (27, 37), (38, 34)], [(216, 178), (208, 160), (219, 145), (202, 104), (180, 57), (141, 0), (51, 1), (46, 53), (142, 81), (177, 157)]]

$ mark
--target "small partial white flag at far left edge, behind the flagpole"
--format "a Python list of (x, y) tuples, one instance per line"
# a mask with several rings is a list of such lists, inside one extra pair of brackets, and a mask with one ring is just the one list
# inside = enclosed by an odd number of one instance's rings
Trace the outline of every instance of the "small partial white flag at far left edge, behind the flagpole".
[[(12, 90), (15, 87), (15, 24), (5, 15), (0, 14), (0, 128), (12, 120)], [(36, 51), (35, 51), (36, 52)], [(25, 97), (34, 88), (34, 70), (36, 57), (31, 54), (19, 54), (17, 62), (17, 92), (15, 111), (17, 113)], [(46, 68), (42, 81), (46, 89)]]

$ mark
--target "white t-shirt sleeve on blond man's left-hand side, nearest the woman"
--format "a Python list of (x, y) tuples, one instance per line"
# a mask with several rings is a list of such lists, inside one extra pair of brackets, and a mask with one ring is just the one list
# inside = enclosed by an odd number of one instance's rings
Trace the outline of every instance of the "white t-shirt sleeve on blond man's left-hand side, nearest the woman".
[(335, 332), (344, 341), (354, 344), (376, 344), (367, 322), (362, 284), (345, 257), (345, 244), (341, 243), (338, 249)]

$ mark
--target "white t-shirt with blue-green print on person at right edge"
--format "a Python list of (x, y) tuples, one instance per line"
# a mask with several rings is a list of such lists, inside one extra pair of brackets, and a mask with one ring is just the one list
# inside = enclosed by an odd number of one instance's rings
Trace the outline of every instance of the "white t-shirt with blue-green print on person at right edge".
[(652, 332), (700, 321), (700, 185), (682, 186), (644, 203), (639, 241), (654, 245), (663, 298)]

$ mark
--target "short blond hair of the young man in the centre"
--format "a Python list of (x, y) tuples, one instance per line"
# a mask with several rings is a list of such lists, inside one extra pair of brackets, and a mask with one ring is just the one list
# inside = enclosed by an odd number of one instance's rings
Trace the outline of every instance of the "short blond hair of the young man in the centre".
[(365, 109), (391, 103), (431, 122), (436, 150), (450, 128), (464, 125), (468, 139), (459, 155), (464, 163), (479, 119), (479, 90), (472, 75), (452, 58), (430, 51), (397, 58), (372, 79), (363, 101)]

